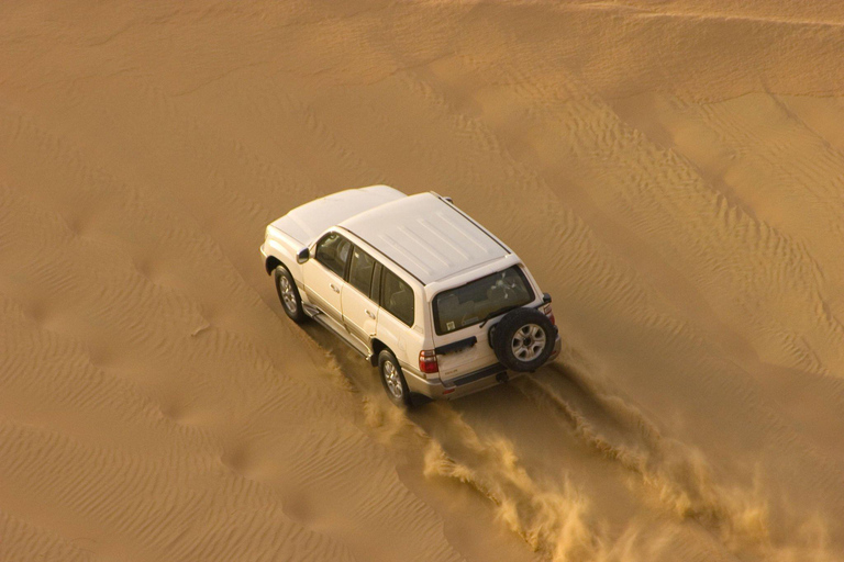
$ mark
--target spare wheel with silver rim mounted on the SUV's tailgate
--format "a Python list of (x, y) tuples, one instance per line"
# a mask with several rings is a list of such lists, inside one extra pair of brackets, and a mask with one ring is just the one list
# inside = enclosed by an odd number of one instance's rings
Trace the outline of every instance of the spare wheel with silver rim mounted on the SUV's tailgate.
[(515, 308), (489, 330), (490, 342), (501, 363), (517, 372), (535, 371), (554, 351), (557, 328), (536, 308)]

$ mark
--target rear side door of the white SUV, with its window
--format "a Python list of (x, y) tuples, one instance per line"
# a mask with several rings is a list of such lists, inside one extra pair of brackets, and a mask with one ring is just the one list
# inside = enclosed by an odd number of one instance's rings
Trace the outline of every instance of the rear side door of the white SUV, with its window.
[(343, 285), (343, 322), (346, 329), (367, 348), (375, 336), (378, 305), (373, 301), (373, 279), (380, 274), (381, 265), (354, 246), (348, 265), (348, 281)]

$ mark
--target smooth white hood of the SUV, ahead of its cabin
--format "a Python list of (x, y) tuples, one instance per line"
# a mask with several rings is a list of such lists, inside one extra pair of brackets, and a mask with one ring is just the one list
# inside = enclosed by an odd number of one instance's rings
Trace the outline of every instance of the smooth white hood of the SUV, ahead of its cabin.
[(308, 246), (330, 226), (404, 198), (404, 193), (389, 186), (347, 189), (298, 206), (271, 224), (302, 246)]

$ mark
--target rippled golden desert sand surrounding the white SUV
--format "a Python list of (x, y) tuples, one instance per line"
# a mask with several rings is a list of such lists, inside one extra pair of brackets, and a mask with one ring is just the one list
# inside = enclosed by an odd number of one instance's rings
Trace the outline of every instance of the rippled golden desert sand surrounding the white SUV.
[[(0, 560), (844, 560), (840, 2), (4, 2)], [(404, 415), (257, 246), (454, 196), (564, 357)]]

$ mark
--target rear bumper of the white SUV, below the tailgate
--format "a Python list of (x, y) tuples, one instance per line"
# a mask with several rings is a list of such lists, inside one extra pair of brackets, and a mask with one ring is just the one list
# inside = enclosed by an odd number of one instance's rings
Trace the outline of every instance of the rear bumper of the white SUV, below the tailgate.
[[(562, 348), (563, 342), (559, 339), (559, 335), (557, 335), (557, 339), (554, 342), (554, 351), (552, 351), (548, 361), (556, 359)], [(459, 398), (460, 396), (474, 394), (524, 374), (508, 371), (501, 363), (496, 363), (457, 376), (456, 379), (441, 381), (438, 378), (425, 379), (422, 373), (408, 364), (402, 364), (401, 367), (410, 392), (422, 394), (433, 400)]]

